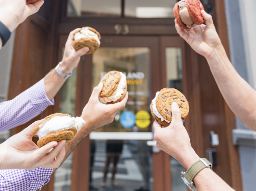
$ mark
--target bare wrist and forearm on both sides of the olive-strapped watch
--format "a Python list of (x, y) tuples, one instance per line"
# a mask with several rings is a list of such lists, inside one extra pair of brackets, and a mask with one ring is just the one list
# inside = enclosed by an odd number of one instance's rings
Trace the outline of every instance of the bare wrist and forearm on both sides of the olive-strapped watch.
[[(187, 170), (194, 162), (198, 161), (200, 158), (191, 150), (186, 153), (186, 156), (182, 156), (179, 162)], [(198, 191), (234, 191), (223, 179), (221, 179), (217, 174), (214, 173), (210, 168), (205, 168), (201, 170), (194, 178), (194, 183)]]

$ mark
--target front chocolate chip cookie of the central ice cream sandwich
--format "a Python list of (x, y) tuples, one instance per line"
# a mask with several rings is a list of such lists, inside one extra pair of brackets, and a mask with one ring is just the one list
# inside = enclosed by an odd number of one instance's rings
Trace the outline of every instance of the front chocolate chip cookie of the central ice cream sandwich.
[[(118, 87), (118, 83), (121, 79), (121, 74), (118, 71), (110, 71), (101, 79), (103, 83), (102, 91), (100, 92), (100, 98), (110, 97)], [(127, 89), (127, 88), (126, 88)]]

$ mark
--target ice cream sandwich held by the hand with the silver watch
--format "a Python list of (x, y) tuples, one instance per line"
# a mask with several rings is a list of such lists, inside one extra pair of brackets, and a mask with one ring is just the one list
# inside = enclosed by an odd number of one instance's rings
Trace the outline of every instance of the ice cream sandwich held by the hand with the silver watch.
[(83, 27), (74, 36), (73, 47), (75, 51), (89, 47), (86, 54), (94, 53), (100, 47), (100, 33), (91, 27)]

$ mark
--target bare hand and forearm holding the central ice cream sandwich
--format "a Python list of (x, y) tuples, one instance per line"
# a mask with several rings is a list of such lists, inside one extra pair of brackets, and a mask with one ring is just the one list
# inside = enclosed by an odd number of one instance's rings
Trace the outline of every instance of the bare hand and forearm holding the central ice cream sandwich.
[[(62, 163), (87, 135), (102, 126), (113, 122), (117, 112), (125, 107), (128, 100), (128, 93), (126, 93), (125, 98), (118, 103), (110, 105), (100, 103), (99, 94), (102, 88), (102, 83), (94, 88), (89, 102), (86, 104), (82, 112), (82, 118), (85, 120), (85, 124), (82, 129), (77, 132), (75, 137), (65, 144), (66, 155)], [(55, 170), (56, 169), (54, 169), (53, 172), (55, 172)]]

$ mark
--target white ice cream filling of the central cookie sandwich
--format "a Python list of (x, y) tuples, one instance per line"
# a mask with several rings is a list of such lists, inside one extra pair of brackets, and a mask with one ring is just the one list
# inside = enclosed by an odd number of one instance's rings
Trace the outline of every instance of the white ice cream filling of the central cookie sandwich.
[(121, 79), (120, 79), (117, 89), (114, 91), (114, 93), (108, 98), (100, 98), (100, 100), (103, 103), (115, 102), (122, 97), (122, 94), (124, 93), (125, 88), (126, 88), (126, 76), (122, 72), (120, 72), (120, 75), (121, 75)]

